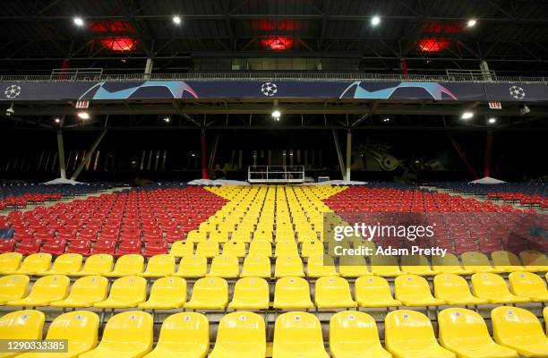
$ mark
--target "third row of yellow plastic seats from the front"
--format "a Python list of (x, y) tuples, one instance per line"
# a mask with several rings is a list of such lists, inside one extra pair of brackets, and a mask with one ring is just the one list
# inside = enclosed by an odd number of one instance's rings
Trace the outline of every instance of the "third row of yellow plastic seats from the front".
[[(308, 257), (304, 266), (304, 262), (299, 256), (288, 254), (287, 256), (279, 256), (274, 261), (274, 277), (361, 277), (372, 274), (381, 277), (398, 277), (404, 274), (434, 276), (441, 273), (469, 275), (473, 273), (515, 271), (545, 272), (548, 268), (546, 265), (524, 267), (518, 264), (491, 266), (489, 261), (484, 262), (481, 260), (475, 260), (474, 266), (461, 267), (457, 257), (453, 256), (451, 258), (448, 255), (446, 254), (446, 258), (437, 262), (438, 264), (432, 268), (424, 257), (418, 257), (418, 261), (415, 260), (417, 257), (403, 257), (402, 266), (400, 267), (395, 257), (372, 256), (370, 257), (370, 271), (364, 257), (343, 257), (340, 258), (338, 265), (335, 265), (330, 256), (315, 255)], [(0, 254), (0, 274), (18, 273), (39, 276), (53, 274), (69, 276), (102, 275), (107, 277), (127, 275), (142, 277), (272, 277), (270, 257), (253, 252), (244, 258), (243, 265), (240, 265), (240, 259), (237, 256), (231, 254), (214, 257), (210, 260), (210, 265), (206, 256), (184, 255), (179, 260), (178, 268), (176, 255), (158, 254), (146, 261), (146, 269), (144, 257), (138, 254), (121, 256), (116, 260), (116, 265), (113, 256), (108, 254), (91, 255), (84, 261), (78, 253), (65, 253), (58, 256), (53, 265), (51, 264), (52, 257), (48, 253), (35, 253), (27, 256), (24, 260), (22, 259), (22, 255), (18, 252)], [(544, 261), (538, 262), (546, 263)], [(408, 263), (408, 265), (405, 265), (405, 263)], [(434, 263), (436, 263), (435, 260)], [(501, 261), (500, 263), (511, 264), (512, 262)]]

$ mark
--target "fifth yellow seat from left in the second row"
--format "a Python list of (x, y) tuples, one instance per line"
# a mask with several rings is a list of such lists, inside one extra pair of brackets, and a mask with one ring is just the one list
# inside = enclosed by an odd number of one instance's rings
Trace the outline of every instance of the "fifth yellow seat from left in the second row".
[(158, 278), (150, 288), (150, 297), (139, 303), (141, 310), (168, 310), (183, 307), (186, 302), (186, 281), (181, 277)]

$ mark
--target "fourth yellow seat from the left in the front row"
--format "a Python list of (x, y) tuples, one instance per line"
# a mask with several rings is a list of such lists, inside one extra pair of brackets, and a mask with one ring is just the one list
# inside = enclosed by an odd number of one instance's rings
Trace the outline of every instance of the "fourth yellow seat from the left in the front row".
[(210, 350), (210, 322), (201, 313), (172, 314), (162, 323), (158, 344), (144, 358), (203, 358)]

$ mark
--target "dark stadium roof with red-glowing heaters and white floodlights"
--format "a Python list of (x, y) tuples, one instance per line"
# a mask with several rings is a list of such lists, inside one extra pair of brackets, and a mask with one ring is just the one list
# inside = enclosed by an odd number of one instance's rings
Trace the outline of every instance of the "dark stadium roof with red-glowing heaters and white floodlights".
[(11, 73), (64, 60), (136, 72), (154, 57), (154, 71), (183, 72), (291, 57), (323, 59), (323, 70), (393, 72), (406, 58), (415, 72), (486, 60), (499, 73), (545, 74), (546, 14), (548, 2), (535, 0), (4, 0), (0, 64)]

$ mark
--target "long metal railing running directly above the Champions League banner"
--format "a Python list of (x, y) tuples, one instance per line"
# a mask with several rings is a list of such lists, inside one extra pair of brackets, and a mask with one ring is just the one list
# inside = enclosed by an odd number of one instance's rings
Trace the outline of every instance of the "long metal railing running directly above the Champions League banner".
[(49, 74), (2, 75), (0, 82), (79, 82), (79, 81), (436, 81), (436, 82), (521, 82), (548, 85), (548, 77), (497, 76), (484, 73), (454, 72), (446, 74), (384, 74), (369, 72), (186, 72), (103, 74), (101, 69), (75, 69)]

